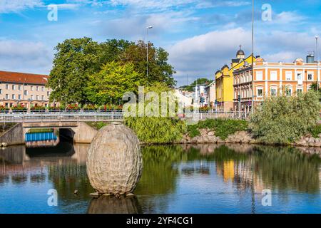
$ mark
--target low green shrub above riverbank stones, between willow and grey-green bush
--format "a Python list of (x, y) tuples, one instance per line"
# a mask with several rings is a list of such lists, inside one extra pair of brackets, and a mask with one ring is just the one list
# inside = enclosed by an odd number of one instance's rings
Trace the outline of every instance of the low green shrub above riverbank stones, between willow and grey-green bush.
[(200, 135), (200, 129), (208, 128), (215, 132), (215, 136), (225, 140), (228, 135), (233, 135), (237, 131), (248, 130), (248, 122), (245, 120), (229, 119), (207, 119), (195, 125), (188, 125), (188, 135), (195, 137)]

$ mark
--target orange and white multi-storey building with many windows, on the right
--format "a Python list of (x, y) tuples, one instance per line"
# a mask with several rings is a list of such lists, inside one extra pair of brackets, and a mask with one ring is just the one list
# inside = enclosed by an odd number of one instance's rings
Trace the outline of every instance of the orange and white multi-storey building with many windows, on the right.
[(256, 58), (254, 66), (243, 64), (235, 68), (233, 75), (234, 110), (249, 113), (252, 101), (258, 105), (270, 96), (307, 92), (312, 83), (320, 82), (320, 65), (309, 58), (307, 63), (302, 58), (297, 58), (293, 63), (269, 63), (263, 58)]

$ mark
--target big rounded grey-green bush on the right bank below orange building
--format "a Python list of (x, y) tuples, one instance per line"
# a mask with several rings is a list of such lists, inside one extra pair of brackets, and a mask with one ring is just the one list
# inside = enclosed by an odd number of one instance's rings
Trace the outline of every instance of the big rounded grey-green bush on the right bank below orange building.
[(295, 97), (268, 98), (250, 118), (250, 130), (262, 142), (288, 144), (312, 129), (320, 104), (314, 91)]

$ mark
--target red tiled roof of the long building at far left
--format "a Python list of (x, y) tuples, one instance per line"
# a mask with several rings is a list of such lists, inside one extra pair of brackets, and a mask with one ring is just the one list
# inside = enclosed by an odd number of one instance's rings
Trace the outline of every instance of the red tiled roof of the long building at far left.
[(45, 85), (49, 76), (34, 73), (0, 71), (0, 82)]

